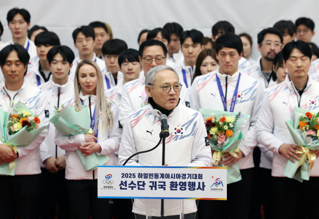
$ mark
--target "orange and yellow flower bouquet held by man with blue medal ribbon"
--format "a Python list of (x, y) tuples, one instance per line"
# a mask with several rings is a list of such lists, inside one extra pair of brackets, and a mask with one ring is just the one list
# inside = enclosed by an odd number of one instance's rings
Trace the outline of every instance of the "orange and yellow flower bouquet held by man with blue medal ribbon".
[[(241, 130), (250, 115), (209, 109), (199, 109), (199, 112), (205, 120), (207, 137), (210, 147), (214, 151), (214, 166), (225, 167), (224, 164), (218, 164), (222, 154), (229, 153), (230, 156), (238, 158), (239, 143), (243, 138)], [(237, 163), (227, 167), (227, 184), (240, 180), (241, 175)]]

